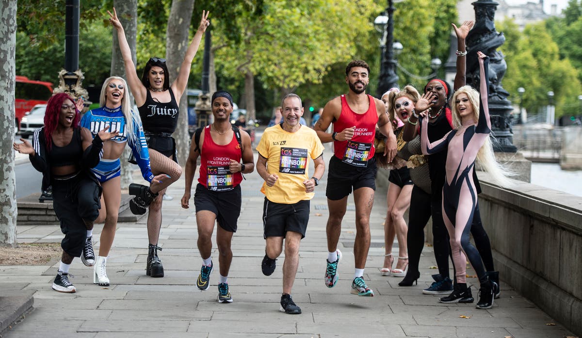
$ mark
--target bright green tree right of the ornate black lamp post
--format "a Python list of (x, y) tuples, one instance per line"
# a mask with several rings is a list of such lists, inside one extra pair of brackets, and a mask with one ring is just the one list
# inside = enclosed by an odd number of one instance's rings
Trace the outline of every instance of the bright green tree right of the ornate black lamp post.
[(499, 48), (505, 55), (508, 71), (503, 87), (519, 102), (517, 88), (523, 87), (523, 106), (529, 112), (538, 113), (548, 105), (548, 91), (555, 94), (556, 118), (569, 114), (572, 102), (582, 90), (578, 71), (570, 59), (562, 59), (559, 47), (546, 29), (545, 23), (526, 26), (520, 33), (512, 20), (496, 23), (507, 40)]

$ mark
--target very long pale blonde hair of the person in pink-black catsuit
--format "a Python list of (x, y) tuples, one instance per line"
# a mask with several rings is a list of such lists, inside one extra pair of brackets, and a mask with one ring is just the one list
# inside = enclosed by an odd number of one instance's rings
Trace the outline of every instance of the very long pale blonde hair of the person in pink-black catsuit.
[[(476, 91), (471, 86), (463, 86), (460, 87), (455, 94), (453, 94), (451, 111), (453, 115), (453, 128), (455, 130), (460, 129), (463, 123), (461, 121), (461, 116), (457, 111), (457, 96), (459, 94), (466, 94), (469, 98), (469, 102), (473, 106), (473, 115), (475, 123), (479, 120), (479, 108), (481, 106), (479, 102), (479, 92)], [(484, 98), (487, 99), (487, 98)], [(477, 164), (481, 167), (482, 170), (489, 173), (491, 178), (494, 180), (494, 183), (499, 184), (500, 186), (512, 186), (513, 182), (508, 179), (508, 176), (516, 175), (509, 167), (503, 163), (499, 163), (495, 159), (495, 152), (493, 151), (493, 146), (491, 144), (491, 138), (495, 137), (492, 134), (489, 134), (489, 137), (485, 138), (485, 142), (481, 145), (481, 148), (477, 152)]]

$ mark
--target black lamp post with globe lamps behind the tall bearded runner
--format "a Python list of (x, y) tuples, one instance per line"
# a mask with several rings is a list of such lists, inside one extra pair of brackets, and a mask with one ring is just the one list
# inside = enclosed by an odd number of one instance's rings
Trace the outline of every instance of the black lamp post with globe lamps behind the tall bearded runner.
[[(388, 19), (382, 19), (381, 21), (385, 24), (384, 34), (382, 35), (381, 45), (382, 58), (380, 64), (380, 76), (378, 81), (377, 96), (381, 97), (386, 91), (392, 87), (398, 87), (398, 75), (396, 75), (396, 57), (394, 55), (394, 19), (393, 13), (396, 10), (392, 4), (392, 0), (388, 0), (388, 7), (386, 7), (386, 13), (388, 13)], [(374, 24), (378, 25), (378, 21), (381, 17), (379, 16), (374, 20)]]

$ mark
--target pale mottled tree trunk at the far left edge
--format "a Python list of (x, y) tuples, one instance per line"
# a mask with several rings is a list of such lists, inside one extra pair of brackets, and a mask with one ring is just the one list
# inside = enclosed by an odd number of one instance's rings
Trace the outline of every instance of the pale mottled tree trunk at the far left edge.
[(0, 246), (16, 246), (16, 174), (14, 172), (14, 90), (16, 81), (16, 0), (0, 0)]

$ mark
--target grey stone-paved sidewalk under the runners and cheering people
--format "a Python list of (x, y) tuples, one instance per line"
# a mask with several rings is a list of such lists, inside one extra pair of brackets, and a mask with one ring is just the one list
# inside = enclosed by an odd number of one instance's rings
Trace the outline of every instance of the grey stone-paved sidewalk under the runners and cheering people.
[[(326, 164), (331, 152), (326, 151)], [(255, 152), (255, 160), (257, 154)], [(197, 175), (196, 175), (197, 176)], [(374, 289), (374, 297), (350, 294), (353, 278), (354, 204), (350, 196), (339, 248), (343, 259), (340, 280), (333, 289), (324, 286), (327, 246), (325, 223), (327, 201), (325, 177), (311, 201), (307, 235), (301, 241), (300, 266), (293, 287), (293, 299), (303, 314), (279, 312), (282, 291), (283, 257), (273, 275), (261, 273), (264, 255), (262, 238), (262, 184), (256, 172), (242, 183), (243, 209), (239, 230), (233, 237), (233, 261), (229, 275), (232, 304), (217, 303), (218, 251), (212, 258), (215, 271), (211, 286), (200, 291), (194, 285), (201, 258), (196, 247), (197, 230), (193, 202), (191, 209), (180, 207), (184, 180), (168, 189), (174, 198), (164, 201), (164, 219), (159, 252), (165, 277), (145, 276), (147, 230), (145, 218), (139, 223), (120, 223), (108, 261), (111, 286), (93, 284), (93, 269), (80, 259), (70, 272), (77, 293), (53, 291), (51, 283), (58, 261), (46, 266), (0, 266), (0, 290), (36, 290), (34, 308), (3, 338), (16, 337), (565, 337), (573, 336), (559, 323), (502, 282), (499, 300), (489, 310), (475, 304), (440, 304), (438, 296), (425, 296), (437, 271), (431, 247), (421, 258), (417, 286), (399, 287), (401, 278), (381, 276), (384, 259), (383, 222), (385, 190), (377, 191), (371, 215), (372, 244), (364, 279)], [(139, 175), (136, 175), (136, 181)], [(94, 239), (101, 225), (95, 226)], [(58, 242), (58, 226), (19, 226), (20, 242)], [(97, 243), (95, 249), (99, 244)], [(95, 250), (97, 251), (97, 250)], [(394, 246), (398, 255), (398, 245)], [(469, 275), (474, 272), (469, 269)], [(451, 273), (452, 274), (452, 273)], [(501, 276), (503, 278), (503, 276)], [(478, 282), (473, 296), (477, 300)], [(476, 286), (476, 287), (475, 287)], [(2, 306), (2, 304), (0, 304)], [(548, 325), (555, 323), (555, 325)]]

